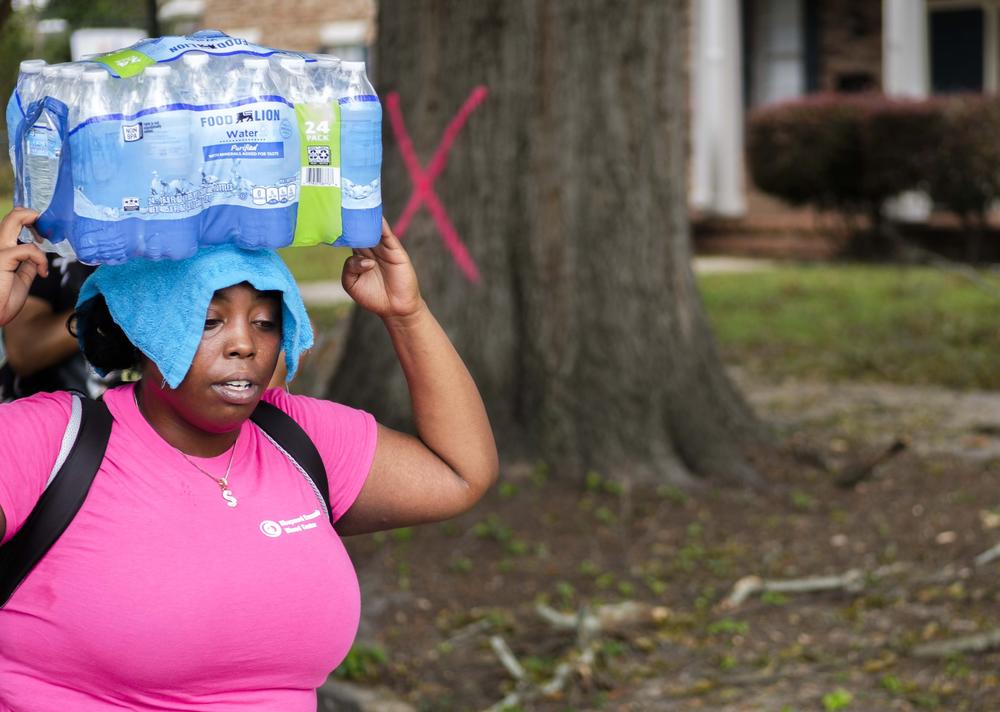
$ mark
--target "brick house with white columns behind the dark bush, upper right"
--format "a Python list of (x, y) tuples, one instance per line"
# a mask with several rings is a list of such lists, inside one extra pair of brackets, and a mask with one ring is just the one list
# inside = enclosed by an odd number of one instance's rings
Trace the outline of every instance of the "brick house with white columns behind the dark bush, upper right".
[(691, 21), (701, 215), (753, 212), (743, 132), (754, 108), (820, 91), (1000, 89), (1000, 0), (693, 0)]

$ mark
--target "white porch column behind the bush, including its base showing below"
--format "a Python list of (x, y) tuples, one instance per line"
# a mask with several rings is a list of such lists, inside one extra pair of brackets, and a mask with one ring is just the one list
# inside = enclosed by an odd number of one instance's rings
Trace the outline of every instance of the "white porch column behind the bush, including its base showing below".
[[(882, 0), (882, 90), (887, 96), (923, 99), (929, 93), (927, 4), (924, 0)], [(886, 212), (917, 222), (931, 214), (930, 197), (911, 191), (893, 198)]]

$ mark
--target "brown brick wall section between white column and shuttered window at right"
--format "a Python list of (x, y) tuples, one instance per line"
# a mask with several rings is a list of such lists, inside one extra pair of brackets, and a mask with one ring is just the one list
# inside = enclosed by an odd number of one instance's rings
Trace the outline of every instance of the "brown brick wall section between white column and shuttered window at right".
[[(880, 89), (882, 3), (821, 0), (819, 26), (819, 88), (823, 91)], [(870, 78), (871, 86), (854, 86), (866, 78)]]

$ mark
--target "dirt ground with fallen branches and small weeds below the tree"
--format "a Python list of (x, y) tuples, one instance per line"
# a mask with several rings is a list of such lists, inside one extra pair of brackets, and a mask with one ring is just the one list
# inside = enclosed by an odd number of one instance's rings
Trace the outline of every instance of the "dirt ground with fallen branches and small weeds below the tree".
[[(1000, 628), (1000, 559), (974, 562), (1000, 542), (1000, 393), (735, 376), (792, 453), (767, 493), (509, 467), (461, 519), (350, 543), (355, 679), (434, 712), (513, 693), (508, 709), (544, 712), (1000, 710), (1000, 647), (920, 656)], [(854, 489), (834, 485), (896, 440)], [(725, 606), (746, 576), (851, 571)]]

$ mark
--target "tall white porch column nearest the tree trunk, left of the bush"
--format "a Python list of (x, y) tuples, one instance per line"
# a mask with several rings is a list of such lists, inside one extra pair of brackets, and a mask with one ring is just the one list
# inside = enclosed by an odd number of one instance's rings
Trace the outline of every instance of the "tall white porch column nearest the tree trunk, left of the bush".
[(692, 12), (691, 204), (738, 216), (746, 210), (740, 0), (696, 0)]

